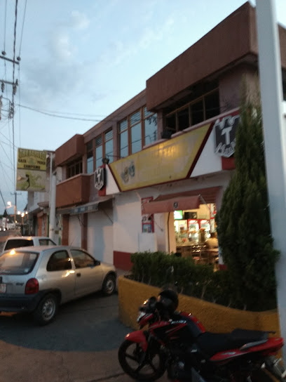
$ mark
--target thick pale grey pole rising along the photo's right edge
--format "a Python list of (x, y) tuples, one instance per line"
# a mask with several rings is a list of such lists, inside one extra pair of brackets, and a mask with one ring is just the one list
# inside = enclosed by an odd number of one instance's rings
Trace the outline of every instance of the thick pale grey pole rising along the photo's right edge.
[[(278, 24), (273, 0), (259, 0), (257, 37), (259, 47), (259, 79), (264, 128), (264, 152), (270, 206), (271, 232), (274, 247), (280, 251), (276, 264), (277, 302), (280, 331), (286, 338), (286, 123), (282, 115), (282, 75)], [(263, 301), (261, 301), (263, 304)], [(286, 348), (282, 349), (286, 362)]]

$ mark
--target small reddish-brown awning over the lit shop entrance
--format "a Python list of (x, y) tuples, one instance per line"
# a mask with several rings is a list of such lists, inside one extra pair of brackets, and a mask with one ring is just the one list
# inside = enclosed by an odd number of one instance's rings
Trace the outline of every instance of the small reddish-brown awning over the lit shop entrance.
[(161, 213), (171, 212), (183, 209), (198, 209), (200, 206), (200, 196), (184, 196), (184, 197), (171, 197), (167, 199), (168, 195), (157, 197), (151, 202), (142, 205), (142, 213)]

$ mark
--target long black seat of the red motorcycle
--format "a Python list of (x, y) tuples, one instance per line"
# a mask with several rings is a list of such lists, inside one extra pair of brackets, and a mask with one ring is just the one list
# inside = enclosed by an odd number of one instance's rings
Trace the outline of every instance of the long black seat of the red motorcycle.
[(231, 333), (211, 333), (206, 331), (196, 338), (198, 347), (208, 357), (224, 350), (242, 348), (247, 343), (266, 342), (267, 331), (234, 329)]

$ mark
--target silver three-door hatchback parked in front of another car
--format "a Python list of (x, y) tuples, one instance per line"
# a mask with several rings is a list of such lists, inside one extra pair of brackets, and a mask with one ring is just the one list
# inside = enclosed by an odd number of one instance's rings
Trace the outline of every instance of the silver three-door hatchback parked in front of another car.
[(72, 246), (27, 246), (0, 256), (0, 311), (32, 312), (38, 324), (53, 320), (60, 304), (116, 288), (114, 265)]

